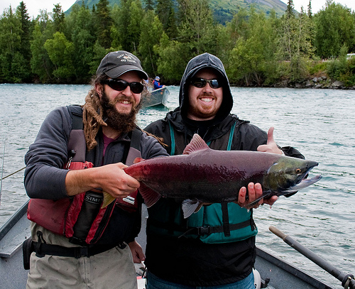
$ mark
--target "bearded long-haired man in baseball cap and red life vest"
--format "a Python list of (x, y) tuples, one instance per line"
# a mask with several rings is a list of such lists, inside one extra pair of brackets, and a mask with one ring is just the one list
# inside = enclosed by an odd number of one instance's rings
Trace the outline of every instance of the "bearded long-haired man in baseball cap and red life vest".
[[(84, 106), (55, 109), (40, 127), (25, 156), (32, 241), (23, 246), (33, 251), (27, 288), (137, 288), (140, 184), (124, 163), (168, 156), (136, 126), (147, 79), (135, 55), (108, 53)], [(115, 202), (102, 208), (102, 192)]]

